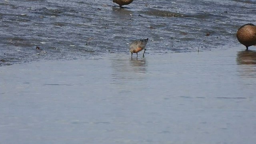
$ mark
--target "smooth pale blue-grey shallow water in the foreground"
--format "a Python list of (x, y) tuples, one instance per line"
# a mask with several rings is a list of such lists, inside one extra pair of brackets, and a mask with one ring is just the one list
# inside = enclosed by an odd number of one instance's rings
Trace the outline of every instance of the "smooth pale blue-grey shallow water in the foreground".
[(256, 52), (1, 66), (0, 143), (252, 144)]

